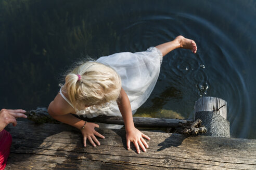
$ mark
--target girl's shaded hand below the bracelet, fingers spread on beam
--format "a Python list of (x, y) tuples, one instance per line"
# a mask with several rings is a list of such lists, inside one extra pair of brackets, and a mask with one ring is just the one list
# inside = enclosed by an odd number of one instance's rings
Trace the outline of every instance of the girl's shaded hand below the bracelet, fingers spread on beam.
[[(84, 147), (86, 147), (87, 139), (94, 147), (96, 147), (95, 143), (97, 145), (100, 145), (100, 143), (99, 143), (98, 139), (95, 137), (95, 135), (98, 137), (101, 137), (103, 139), (105, 138), (103, 135), (101, 135), (100, 133), (95, 131), (95, 129), (94, 129), (95, 127), (99, 127), (99, 125), (95, 124), (95, 123), (86, 122), (84, 129), (81, 129), (81, 132), (84, 137)], [(94, 141), (95, 141), (95, 143), (94, 143)]]

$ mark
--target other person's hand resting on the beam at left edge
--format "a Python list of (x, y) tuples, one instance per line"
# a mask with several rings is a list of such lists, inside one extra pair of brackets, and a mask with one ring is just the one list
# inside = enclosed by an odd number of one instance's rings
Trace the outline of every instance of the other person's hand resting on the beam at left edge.
[(23, 113), (26, 112), (22, 109), (2, 109), (0, 111), (0, 132), (5, 129), (5, 127), (12, 123), (13, 126), (17, 125), (16, 118), (27, 118)]

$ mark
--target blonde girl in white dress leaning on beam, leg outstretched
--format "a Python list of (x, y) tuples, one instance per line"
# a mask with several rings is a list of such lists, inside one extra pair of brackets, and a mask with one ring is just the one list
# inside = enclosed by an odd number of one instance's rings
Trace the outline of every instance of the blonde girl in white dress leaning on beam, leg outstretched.
[(100, 114), (122, 115), (127, 149), (133, 142), (138, 153), (139, 146), (146, 152), (148, 144), (144, 138), (150, 138), (134, 127), (132, 116), (155, 87), (162, 57), (177, 48), (197, 51), (195, 41), (178, 36), (144, 52), (122, 52), (80, 64), (66, 76), (65, 84), (49, 104), (49, 114), (81, 130), (84, 147), (87, 139), (94, 147), (95, 143), (100, 145), (95, 135), (105, 137), (94, 130), (98, 124), (85, 122), (72, 114), (88, 118)]

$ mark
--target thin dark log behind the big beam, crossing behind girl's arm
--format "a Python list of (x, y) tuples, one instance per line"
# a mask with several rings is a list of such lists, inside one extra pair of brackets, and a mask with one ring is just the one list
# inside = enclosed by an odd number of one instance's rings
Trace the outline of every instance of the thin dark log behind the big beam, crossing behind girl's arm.
[[(36, 110), (31, 110), (26, 114), (28, 119), (41, 124), (41, 123), (57, 123), (47, 112), (45, 107), (37, 107)], [(76, 115), (74, 115), (76, 116)], [(78, 116), (76, 116), (78, 117)], [(123, 118), (121, 116), (98, 116), (95, 118), (84, 118), (82, 116), (79, 119), (89, 121), (89, 122), (98, 122), (98, 123), (107, 123), (107, 124), (120, 124), (124, 125)], [(145, 118), (145, 117), (133, 117), (134, 125), (136, 127), (182, 127), (193, 121), (193, 119), (164, 119), (164, 118)]]

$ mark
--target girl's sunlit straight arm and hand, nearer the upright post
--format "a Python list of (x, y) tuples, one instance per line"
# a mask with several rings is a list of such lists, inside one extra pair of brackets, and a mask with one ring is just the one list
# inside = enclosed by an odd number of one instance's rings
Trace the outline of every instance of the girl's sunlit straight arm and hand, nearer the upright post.
[(148, 144), (146, 143), (144, 138), (148, 140), (150, 140), (150, 138), (135, 128), (133, 123), (131, 104), (123, 88), (121, 89), (120, 98), (117, 101), (117, 103), (124, 120), (127, 149), (130, 149), (130, 143), (132, 141), (138, 153), (140, 153), (139, 146), (142, 148), (144, 152), (146, 152)]

